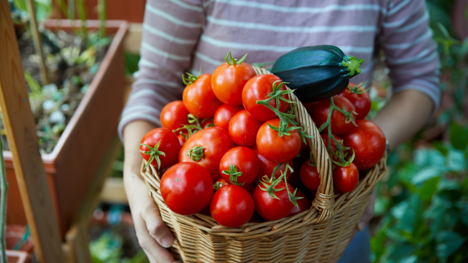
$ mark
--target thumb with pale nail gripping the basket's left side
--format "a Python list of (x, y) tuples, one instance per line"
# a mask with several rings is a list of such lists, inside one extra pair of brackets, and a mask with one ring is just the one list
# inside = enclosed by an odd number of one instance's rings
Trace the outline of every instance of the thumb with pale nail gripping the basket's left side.
[(142, 219), (146, 222), (146, 228), (151, 237), (153, 237), (164, 248), (170, 248), (174, 239), (171, 231), (161, 218), (159, 209), (155, 206), (146, 210), (146, 213), (141, 214)]

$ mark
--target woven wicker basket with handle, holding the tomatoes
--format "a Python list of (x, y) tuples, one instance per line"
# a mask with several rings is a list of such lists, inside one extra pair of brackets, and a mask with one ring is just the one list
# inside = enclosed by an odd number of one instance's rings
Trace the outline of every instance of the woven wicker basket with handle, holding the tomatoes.
[[(269, 73), (254, 67), (257, 74)], [(312, 155), (321, 176), (312, 207), (292, 217), (264, 223), (247, 223), (225, 228), (203, 214), (181, 216), (169, 210), (160, 193), (159, 171), (149, 165), (141, 174), (161, 216), (174, 236), (170, 249), (184, 262), (323, 262), (338, 261), (351, 241), (377, 182), (386, 173), (386, 156), (346, 194), (333, 194), (331, 163), (317, 127), (293, 93), (294, 114), (307, 134)]]

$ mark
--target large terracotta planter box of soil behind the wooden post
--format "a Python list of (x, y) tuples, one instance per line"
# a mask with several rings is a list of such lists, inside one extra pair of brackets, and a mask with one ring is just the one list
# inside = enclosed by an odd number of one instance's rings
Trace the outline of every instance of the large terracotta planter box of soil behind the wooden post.
[[(76, 21), (76, 26), (80, 22)], [(67, 20), (47, 20), (49, 29), (72, 31)], [(87, 21), (89, 29), (97, 29), (99, 21)], [(50, 154), (42, 155), (59, 229), (62, 236), (69, 228), (81, 205), (86, 190), (103, 158), (111, 139), (116, 135), (123, 109), (124, 64), (123, 39), (128, 23), (106, 22), (107, 33), (114, 36), (89, 89), (60, 140)], [(7, 223), (25, 225), (19, 189), (14, 175), (11, 152), (3, 151), (7, 175)]]

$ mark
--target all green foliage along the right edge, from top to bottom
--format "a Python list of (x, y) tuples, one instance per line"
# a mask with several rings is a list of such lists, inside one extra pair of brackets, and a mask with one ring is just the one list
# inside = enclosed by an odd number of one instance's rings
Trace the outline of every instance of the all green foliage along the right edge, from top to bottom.
[(452, 4), (428, 0), (445, 100), (432, 128), (442, 129), (433, 138), (423, 129), (388, 158), (371, 241), (376, 263), (468, 262), (468, 38), (453, 37)]

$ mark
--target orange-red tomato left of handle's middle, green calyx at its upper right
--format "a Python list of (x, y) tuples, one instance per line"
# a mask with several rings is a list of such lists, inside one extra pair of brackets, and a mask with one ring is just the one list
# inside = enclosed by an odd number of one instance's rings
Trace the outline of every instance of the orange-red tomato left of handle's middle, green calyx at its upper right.
[(291, 135), (279, 137), (278, 132), (268, 124), (279, 127), (280, 119), (272, 119), (263, 123), (258, 129), (256, 143), (258, 152), (266, 159), (285, 163), (297, 156), (301, 149), (301, 137), (297, 130), (290, 131)]

